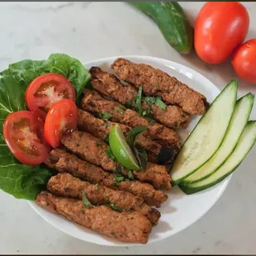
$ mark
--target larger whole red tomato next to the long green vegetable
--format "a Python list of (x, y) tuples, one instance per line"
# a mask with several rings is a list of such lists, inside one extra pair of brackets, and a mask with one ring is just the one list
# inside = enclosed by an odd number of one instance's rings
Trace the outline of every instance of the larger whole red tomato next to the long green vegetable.
[(227, 59), (244, 41), (249, 14), (239, 2), (206, 2), (195, 24), (197, 55), (209, 64)]

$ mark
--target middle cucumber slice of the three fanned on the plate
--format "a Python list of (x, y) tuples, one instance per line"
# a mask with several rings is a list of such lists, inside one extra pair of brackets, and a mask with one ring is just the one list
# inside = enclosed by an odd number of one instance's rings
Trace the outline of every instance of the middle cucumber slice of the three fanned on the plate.
[(230, 126), (226, 132), (225, 139), (220, 145), (220, 149), (214, 154), (214, 156), (206, 162), (196, 173), (183, 179), (182, 184), (197, 183), (201, 180), (208, 178), (212, 173), (225, 162), (225, 159), (229, 157), (232, 151), (235, 149), (239, 141), (239, 137), (242, 134), (244, 127), (246, 126), (250, 112), (254, 106), (254, 95), (252, 93), (246, 94), (241, 97), (235, 104), (235, 111), (230, 121)]

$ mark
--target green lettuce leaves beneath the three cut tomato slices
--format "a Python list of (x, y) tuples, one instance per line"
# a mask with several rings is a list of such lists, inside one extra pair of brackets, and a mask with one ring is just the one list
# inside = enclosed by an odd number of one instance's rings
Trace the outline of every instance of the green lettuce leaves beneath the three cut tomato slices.
[(41, 165), (31, 167), (19, 163), (5, 143), (2, 124), (8, 114), (26, 110), (26, 88), (44, 73), (59, 73), (68, 78), (77, 99), (90, 79), (90, 73), (78, 59), (64, 54), (50, 55), (47, 60), (22, 60), (0, 73), (0, 189), (27, 200), (35, 200), (53, 174)]

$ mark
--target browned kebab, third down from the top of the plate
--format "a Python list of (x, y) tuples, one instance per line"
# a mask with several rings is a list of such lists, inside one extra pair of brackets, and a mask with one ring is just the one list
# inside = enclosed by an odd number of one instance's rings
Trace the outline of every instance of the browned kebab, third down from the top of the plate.
[(147, 119), (140, 116), (136, 111), (124, 108), (120, 103), (103, 98), (98, 92), (85, 89), (84, 97), (81, 100), (81, 108), (97, 115), (107, 113), (110, 121), (115, 121), (126, 126), (147, 126), (149, 129), (143, 133), (151, 140), (160, 145), (172, 147), (177, 150), (180, 145), (178, 133), (159, 123), (150, 123)]

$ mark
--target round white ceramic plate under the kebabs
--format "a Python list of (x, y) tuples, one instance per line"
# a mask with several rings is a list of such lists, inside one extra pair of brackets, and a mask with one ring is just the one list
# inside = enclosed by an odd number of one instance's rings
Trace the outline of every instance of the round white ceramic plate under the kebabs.
[[(117, 57), (110, 57), (92, 60), (84, 64), (84, 66), (87, 69), (92, 66), (100, 66), (103, 70), (112, 73), (110, 66), (116, 58)], [(130, 59), (135, 63), (149, 64), (154, 68), (161, 69), (164, 72), (175, 76), (183, 83), (187, 83), (191, 88), (205, 95), (209, 102), (212, 102), (220, 92), (219, 89), (216, 88), (216, 86), (207, 78), (202, 76), (200, 73), (197, 73), (197, 71), (183, 66), (182, 64), (177, 64), (166, 59), (145, 56), (125, 56), (125, 58)], [(199, 118), (199, 116), (193, 117), (189, 127), (186, 130), (179, 132), (183, 140), (187, 138), (187, 135), (196, 125)], [(178, 187), (173, 187), (171, 191), (168, 192), (168, 201), (159, 208), (162, 216), (159, 220), (159, 225), (153, 228), (152, 234), (149, 236), (149, 243), (174, 235), (196, 222), (201, 218), (201, 216), (206, 214), (206, 211), (211, 209), (211, 206), (216, 203), (218, 198), (224, 192), (229, 181), (230, 177), (217, 184), (215, 187), (211, 187), (210, 189), (190, 196), (185, 195)], [(57, 216), (45, 211), (34, 202), (30, 201), (29, 203), (40, 216), (42, 216), (51, 225), (54, 225), (55, 228), (78, 239), (82, 239), (93, 244), (112, 246), (135, 245), (121, 243), (114, 239), (107, 238), (105, 235), (100, 235), (97, 232), (83, 228), (81, 225), (76, 225), (69, 220), (65, 220), (62, 216)]]

